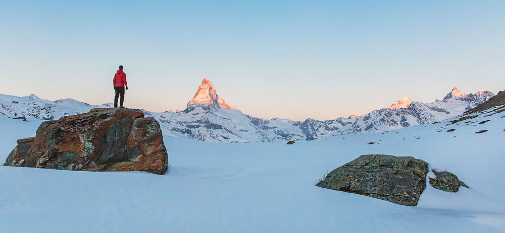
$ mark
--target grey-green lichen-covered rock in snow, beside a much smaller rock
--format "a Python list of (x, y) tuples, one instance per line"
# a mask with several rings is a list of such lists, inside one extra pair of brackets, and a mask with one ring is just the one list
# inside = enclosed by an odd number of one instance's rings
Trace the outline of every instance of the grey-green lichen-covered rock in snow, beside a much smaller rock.
[(428, 163), (413, 157), (367, 154), (331, 171), (317, 186), (415, 206), (427, 173)]

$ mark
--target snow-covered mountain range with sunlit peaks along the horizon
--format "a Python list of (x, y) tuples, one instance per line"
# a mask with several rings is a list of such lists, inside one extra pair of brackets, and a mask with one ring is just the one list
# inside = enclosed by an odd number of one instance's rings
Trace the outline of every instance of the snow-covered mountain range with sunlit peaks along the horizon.
[[(154, 117), (160, 122), (164, 134), (174, 137), (220, 142), (314, 140), (433, 123), (460, 115), (493, 96), (493, 93), (484, 90), (475, 94), (463, 94), (453, 88), (442, 100), (421, 103), (406, 97), (387, 108), (361, 116), (324, 121), (312, 118), (305, 121), (280, 118), (267, 120), (243, 114), (237, 107), (219, 97), (214, 85), (204, 79), (184, 111), (143, 111), (146, 116)], [(73, 99), (48, 101), (35, 95), (0, 95), (0, 106), (2, 115), (53, 120), (113, 105), (107, 103), (94, 106)]]

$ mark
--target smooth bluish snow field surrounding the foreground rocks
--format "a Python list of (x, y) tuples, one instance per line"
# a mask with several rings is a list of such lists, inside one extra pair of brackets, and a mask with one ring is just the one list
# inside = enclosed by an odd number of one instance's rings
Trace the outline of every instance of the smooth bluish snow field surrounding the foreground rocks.
[[(164, 176), (0, 166), (0, 232), (503, 232), (504, 115), (292, 145), (165, 136), (172, 173)], [(2, 163), (40, 122), (0, 116)], [(370, 153), (422, 159), (470, 189), (428, 185), (409, 207), (316, 187)]]

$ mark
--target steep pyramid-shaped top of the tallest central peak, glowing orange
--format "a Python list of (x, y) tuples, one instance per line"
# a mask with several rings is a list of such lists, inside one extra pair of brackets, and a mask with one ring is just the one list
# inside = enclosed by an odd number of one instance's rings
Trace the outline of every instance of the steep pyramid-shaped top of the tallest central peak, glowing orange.
[(223, 98), (220, 98), (214, 88), (214, 85), (210, 80), (205, 78), (201, 81), (201, 85), (198, 86), (198, 90), (188, 103), (188, 107), (185, 111), (191, 111), (196, 106), (199, 106), (205, 110), (210, 108), (227, 108), (238, 110), (235, 106), (227, 103)]

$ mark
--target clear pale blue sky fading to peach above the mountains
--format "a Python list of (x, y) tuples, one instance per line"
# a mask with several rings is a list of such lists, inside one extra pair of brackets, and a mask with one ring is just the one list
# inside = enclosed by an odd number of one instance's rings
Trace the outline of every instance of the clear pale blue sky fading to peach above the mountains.
[(505, 89), (505, 1), (0, 1), (0, 94), (335, 119)]

